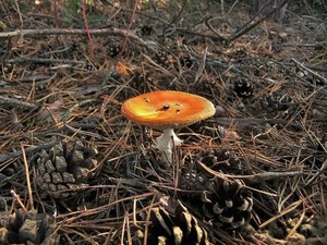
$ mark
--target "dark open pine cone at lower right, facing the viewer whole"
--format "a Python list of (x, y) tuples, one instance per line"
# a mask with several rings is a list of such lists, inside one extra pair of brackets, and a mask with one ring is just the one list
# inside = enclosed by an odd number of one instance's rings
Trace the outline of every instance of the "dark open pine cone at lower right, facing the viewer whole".
[(215, 179), (202, 194), (204, 216), (230, 229), (238, 229), (247, 223), (253, 206), (252, 193), (240, 181), (228, 182)]

